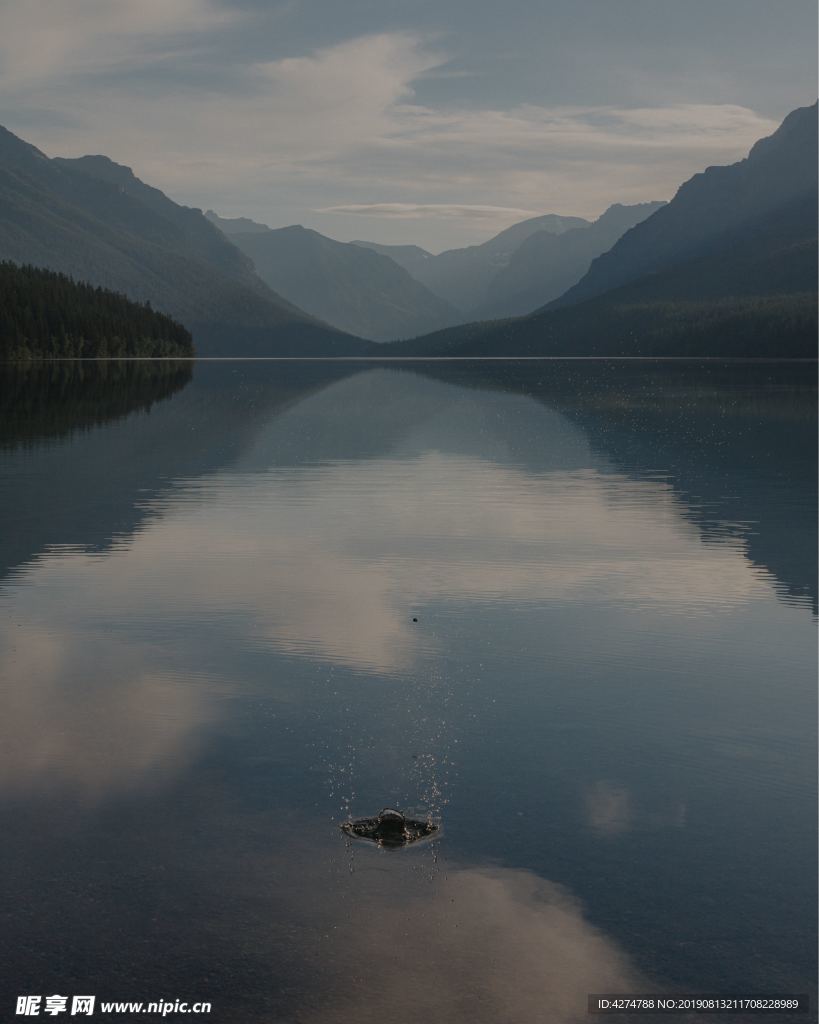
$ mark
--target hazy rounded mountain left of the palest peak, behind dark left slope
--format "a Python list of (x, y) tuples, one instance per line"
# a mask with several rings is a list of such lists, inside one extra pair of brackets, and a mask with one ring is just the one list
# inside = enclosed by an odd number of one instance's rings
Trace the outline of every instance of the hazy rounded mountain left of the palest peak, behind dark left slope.
[[(388, 256), (317, 231), (256, 228), (208, 213), (259, 276), (302, 309), (359, 338), (394, 341), (458, 323), (458, 313)], [(248, 229), (248, 224), (253, 224)]]

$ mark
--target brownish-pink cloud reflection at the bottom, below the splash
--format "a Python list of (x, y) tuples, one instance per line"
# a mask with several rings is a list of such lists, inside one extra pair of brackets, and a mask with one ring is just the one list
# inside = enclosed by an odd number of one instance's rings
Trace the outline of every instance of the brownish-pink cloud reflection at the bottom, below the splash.
[(532, 871), (447, 865), (440, 892), (408, 872), (402, 892), (395, 873), (368, 872), (352, 927), (329, 918), (336, 984), (317, 986), (305, 1022), (569, 1024), (586, 1020), (589, 992), (646, 984), (565, 889)]

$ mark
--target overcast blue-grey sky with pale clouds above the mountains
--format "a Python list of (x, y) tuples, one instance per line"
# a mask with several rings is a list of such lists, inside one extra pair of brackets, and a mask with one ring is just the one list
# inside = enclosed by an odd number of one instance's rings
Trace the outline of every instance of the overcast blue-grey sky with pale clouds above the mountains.
[(341, 241), (670, 199), (816, 99), (814, 0), (0, 0), (0, 124)]

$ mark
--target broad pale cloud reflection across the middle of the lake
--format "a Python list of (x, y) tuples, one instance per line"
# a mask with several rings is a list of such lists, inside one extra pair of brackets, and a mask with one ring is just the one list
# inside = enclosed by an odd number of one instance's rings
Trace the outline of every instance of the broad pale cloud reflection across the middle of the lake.
[(195, 481), (105, 558), (54, 553), (26, 579), (46, 585), (36, 613), (52, 625), (200, 622), (376, 673), (432, 642), (411, 626), (429, 601), (701, 614), (772, 589), (740, 544), (703, 542), (663, 482), (434, 453)]

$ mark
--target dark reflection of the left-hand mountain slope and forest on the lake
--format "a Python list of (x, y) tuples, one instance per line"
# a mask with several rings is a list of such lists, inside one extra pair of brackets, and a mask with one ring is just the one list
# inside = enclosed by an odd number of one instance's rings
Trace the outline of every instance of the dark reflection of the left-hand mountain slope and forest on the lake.
[(294, 364), (259, 376), (243, 366), (7, 368), (0, 578), (49, 547), (102, 551), (127, 538), (175, 480), (231, 462), (271, 416), (351, 372)]

